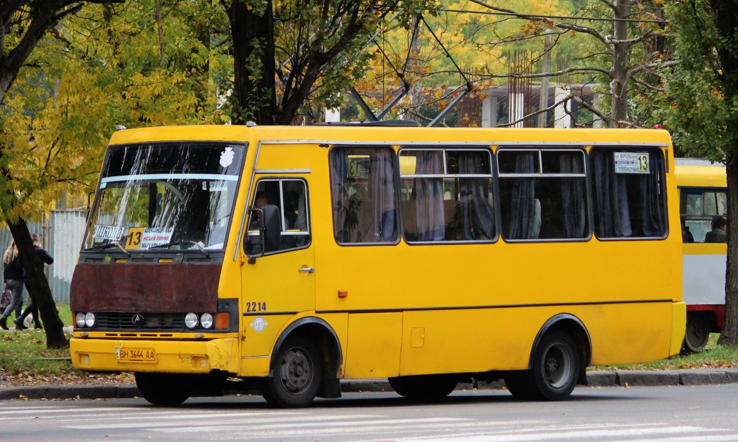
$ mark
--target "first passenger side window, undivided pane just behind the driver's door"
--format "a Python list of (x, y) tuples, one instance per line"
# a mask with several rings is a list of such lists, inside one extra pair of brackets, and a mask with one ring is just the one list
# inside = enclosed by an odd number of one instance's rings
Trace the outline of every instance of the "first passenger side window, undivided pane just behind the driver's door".
[(328, 156), (336, 241), (396, 243), (394, 151), (388, 147), (337, 146)]

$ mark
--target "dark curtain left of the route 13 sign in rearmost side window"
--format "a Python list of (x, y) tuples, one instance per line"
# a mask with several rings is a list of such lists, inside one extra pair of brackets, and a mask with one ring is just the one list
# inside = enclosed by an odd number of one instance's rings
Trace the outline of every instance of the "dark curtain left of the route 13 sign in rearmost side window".
[(615, 173), (612, 151), (594, 155), (597, 233), (603, 238), (632, 236), (630, 207), (624, 174)]

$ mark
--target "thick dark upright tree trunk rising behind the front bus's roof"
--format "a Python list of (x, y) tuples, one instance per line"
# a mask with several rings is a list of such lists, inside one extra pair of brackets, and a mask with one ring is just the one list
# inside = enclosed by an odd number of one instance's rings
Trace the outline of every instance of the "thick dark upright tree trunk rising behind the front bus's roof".
[(233, 49), (232, 122), (275, 124), (275, 39), (272, 0), (263, 10), (232, 1), (228, 8)]

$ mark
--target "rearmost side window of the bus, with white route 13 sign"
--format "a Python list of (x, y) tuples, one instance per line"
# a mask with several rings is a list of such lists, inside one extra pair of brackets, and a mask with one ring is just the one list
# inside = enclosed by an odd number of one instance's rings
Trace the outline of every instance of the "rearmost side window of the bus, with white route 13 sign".
[(661, 150), (596, 147), (590, 164), (599, 238), (666, 236)]

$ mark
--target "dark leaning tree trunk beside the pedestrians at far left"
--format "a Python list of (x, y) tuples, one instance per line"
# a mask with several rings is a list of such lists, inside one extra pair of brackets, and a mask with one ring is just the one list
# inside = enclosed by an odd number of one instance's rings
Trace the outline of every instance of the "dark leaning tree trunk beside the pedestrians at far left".
[(44, 274), (44, 263), (38, 258), (38, 253), (36, 253), (31, 241), (28, 225), (26, 225), (23, 218), (18, 218), (16, 222), (7, 222), (7, 227), (10, 229), (10, 233), (13, 234), (15, 245), (18, 247), (18, 254), (23, 262), (26, 272), (24, 281), (28, 292), (34, 299), (36, 306), (38, 306), (38, 313), (44, 323), (46, 347), (65, 348), (69, 346), (69, 342), (64, 336), (64, 325), (59, 319), (59, 312), (56, 309), (51, 288), (49, 288), (49, 281)]

